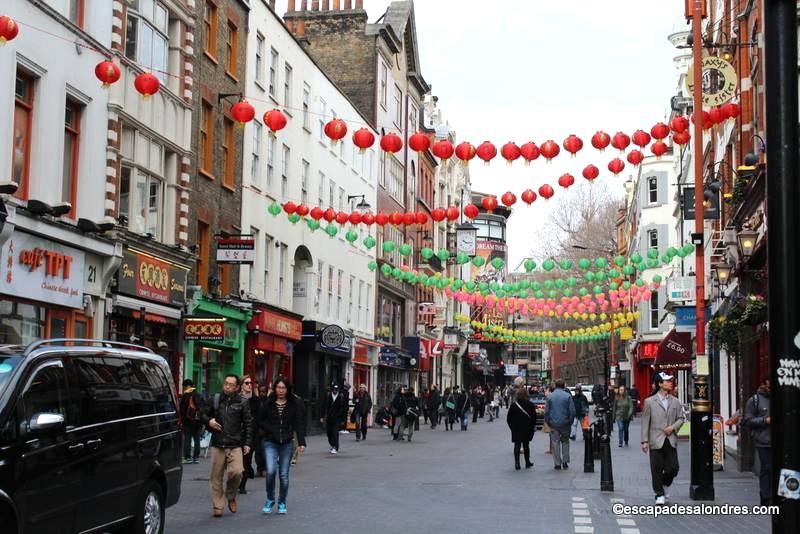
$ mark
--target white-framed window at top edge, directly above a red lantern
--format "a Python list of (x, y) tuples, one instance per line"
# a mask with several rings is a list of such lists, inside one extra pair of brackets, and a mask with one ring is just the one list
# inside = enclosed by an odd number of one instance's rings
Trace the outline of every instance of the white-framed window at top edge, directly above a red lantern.
[(169, 49), (167, 8), (152, 0), (127, 0), (127, 3), (125, 56), (166, 83)]

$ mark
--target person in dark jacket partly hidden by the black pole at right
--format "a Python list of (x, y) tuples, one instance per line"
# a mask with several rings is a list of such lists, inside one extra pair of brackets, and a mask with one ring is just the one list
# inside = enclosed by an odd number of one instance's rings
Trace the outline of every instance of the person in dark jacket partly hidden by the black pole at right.
[(758, 482), (761, 504), (769, 506), (773, 500), (772, 483), (772, 440), (770, 426), (772, 416), (769, 410), (769, 378), (758, 386), (755, 395), (744, 405), (743, 427), (750, 432), (753, 446), (758, 454)]

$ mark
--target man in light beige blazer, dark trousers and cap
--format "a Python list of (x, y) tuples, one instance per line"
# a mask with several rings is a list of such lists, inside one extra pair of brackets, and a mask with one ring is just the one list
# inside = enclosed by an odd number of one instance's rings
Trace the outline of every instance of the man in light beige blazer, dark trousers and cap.
[(665, 372), (655, 376), (657, 390), (644, 401), (642, 451), (650, 454), (650, 474), (656, 504), (669, 497), (665, 487), (678, 475), (678, 430), (685, 421), (683, 406), (672, 396), (673, 377)]

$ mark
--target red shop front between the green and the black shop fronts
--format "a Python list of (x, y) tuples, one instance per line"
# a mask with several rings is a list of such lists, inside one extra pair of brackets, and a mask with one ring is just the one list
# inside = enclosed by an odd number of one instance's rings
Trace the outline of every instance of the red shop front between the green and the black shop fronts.
[(267, 304), (254, 304), (247, 323), (244, 372), (259, 384), (273, 384), (279, 376), (294, 381), (294, 347), (302, 340), (303, 317)]

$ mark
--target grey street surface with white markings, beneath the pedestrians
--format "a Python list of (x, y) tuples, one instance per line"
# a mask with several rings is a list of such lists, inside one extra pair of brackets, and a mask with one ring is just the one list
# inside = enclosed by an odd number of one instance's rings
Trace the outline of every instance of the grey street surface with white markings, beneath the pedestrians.
[[(675, 532), (767, 533), (769, 516), (615, 515), (615, 503), (651, 505), (647, 455), (638, 445), (639, 423), (631, 425), (631, 447), (612, 439), (614, 491), (600, 491), (600, 462), (583, 472), (583, 442), (571, 442), (566, 471), (553, 469), (546, 454), (548, 435), (536, 432), (532, 469), (516, 471), (512, 443), (500, 420), (470, 423), (469, 431), (431, 431), (424, 425), (411, 443), (393, 442), (388, 430), (370, 430), (368, 439), (341, 436), (338, 455), (328, 452), (324, 435), (310, 436), (298, 465), (292, 466), (284, 516), (261, 513), (263, 478), (248, 483), (239, 511), (211, 517), (208, 460), (185, 466), (180, 502), (167, 510), (169, 534), (394, 533), (394, 532), (575, 532), (674, 534)], [(678, 446), (681, 470), (670, 502), (689, 499), (689, 443)], [(732, 468), (733, 466), (731, 466)], [(714, 474), (716, 504), (758, 504), (758, 480), (734, 470)], [(713, 503), (711, 503), (713, 504)]]

